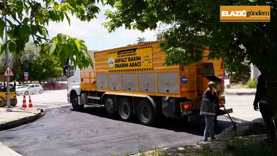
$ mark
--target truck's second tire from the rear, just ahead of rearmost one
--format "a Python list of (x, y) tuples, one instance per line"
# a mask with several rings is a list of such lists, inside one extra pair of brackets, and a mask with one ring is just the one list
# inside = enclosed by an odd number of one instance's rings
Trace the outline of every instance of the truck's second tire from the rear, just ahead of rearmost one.
[(118, 114), (123, 121), (129, 122), (133, 117), (133, 105), (128, 98), (122, 98), (118, 105)]

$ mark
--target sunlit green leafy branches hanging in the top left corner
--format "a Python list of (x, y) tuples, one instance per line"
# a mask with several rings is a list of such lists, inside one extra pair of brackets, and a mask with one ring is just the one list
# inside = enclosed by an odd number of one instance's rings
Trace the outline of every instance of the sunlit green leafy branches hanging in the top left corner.
[[(96, 18), (100, 9), (96, 6), (100, 0), (2, 0), (0, 1), (0, 36), (2, 38), (5, 22), (7, 20), (8, 30), (6, 34), (10, 40), (3, 44), (0, 54), (6, 48), (14, 53), (17, 58), (24, 53), (25, 44), (30, 37), (34, 43), (40, 46), (40, 55), (51, 57), (57, 56), (64, 65), (66, 58), (70, 56), (71, 62), (79, 68), (93, 66), (92, 59), (88, 55), (87, 47), (83, 40), (78, 40), (65, 34), (57, 34), (52, 39), (48, 38), (48, 30), (45, 28), (49, 21), (63, 22), (68, 14), (76, 15), (81, 21), (91, 21)], [(104, 0), (101, 0), (104, 4)], [(5, 18), (6, 15), (9, 18)], [(86, 52), (88, 57), (84, 56)], [(76, 56), (74, 58), (73, 56)]]

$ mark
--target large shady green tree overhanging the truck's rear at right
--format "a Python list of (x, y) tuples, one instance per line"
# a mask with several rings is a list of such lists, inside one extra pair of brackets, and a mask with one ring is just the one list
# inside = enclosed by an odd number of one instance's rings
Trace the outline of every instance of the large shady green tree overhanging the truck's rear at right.
[[(164, 31), (166, 65), (187, 66), (203, 59), (204, 48), (209, 47), (209, 59), (223, 58), (229, 73), (238, 76), (249, 73), (253, 63), (264, 75), (270, 92), (270, 106), (277, 110), (277, 1), (273, 0), (107, 0), (116, 8), (107, 10), (110, 21), (103, 23), (108, 32), (119, 27), (157, 29), (157, 23), (171, 25)], [(271, 6), (270, 22), (220, 22), (220, 6)], [(244, 58), (250, 62), (244, 63)]]

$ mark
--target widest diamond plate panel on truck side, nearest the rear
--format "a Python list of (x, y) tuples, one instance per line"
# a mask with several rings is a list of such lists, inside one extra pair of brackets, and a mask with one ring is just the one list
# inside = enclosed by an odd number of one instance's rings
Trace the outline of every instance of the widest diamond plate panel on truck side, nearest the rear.
[(157, 73), (158, 93), (179, 94), (178, 72)]

